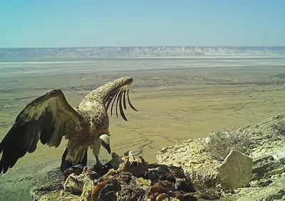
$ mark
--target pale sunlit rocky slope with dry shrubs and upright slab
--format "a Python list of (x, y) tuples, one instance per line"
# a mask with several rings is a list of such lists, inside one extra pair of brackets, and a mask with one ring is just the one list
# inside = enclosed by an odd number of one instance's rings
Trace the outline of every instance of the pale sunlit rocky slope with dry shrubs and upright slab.
[(225, 200), (285, 199), (285, 114), (162, 148), (157, 161), (182, 167), (205, 186), (215, 178), (224, 195), (232, 190)]

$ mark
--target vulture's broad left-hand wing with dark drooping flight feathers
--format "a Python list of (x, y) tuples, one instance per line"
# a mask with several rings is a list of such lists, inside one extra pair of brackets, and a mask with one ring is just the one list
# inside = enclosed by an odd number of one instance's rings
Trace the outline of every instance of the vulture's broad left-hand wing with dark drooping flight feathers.
[(60, 89), (48, 91), (26, 105), (0, 143), (0, 173), (12, 168), (27, 152), (36, 150), (38, 140), (58, 147), (64, 135), (81, 130), (83, 119), (68, 104)]

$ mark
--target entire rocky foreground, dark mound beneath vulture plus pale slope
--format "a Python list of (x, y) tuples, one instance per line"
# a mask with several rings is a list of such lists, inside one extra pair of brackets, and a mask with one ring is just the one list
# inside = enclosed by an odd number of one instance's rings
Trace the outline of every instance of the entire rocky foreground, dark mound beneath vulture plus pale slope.
[[(285, 114), (162, 148), (157, 164), (118, 157), (67, 170), (33, 200), (285, 200)], [(115, 164), (115, 165), (114, 165)]]

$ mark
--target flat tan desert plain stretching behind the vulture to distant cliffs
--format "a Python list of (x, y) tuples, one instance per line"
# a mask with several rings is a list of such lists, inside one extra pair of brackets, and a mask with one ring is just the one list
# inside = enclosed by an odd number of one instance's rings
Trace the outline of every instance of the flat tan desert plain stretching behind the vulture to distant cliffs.
[[(76, 106), (93, 88), (120, 76), (132, 76), (130, 96), (139, 112), (128, 109), (128, 122), (110, 117), (111, 148), (118, 154), (133, 150), (155, 162), (157, 151), (164, 146), (205, 137), (213, 130), (254, 125), (283, 113), (284, 61), (140, 58), (0, 63), (0, 140), (24, 106), (51, 88), (61, 88)], [(15, 167), (60, 160), (64, 145), (38, 145), (35, 153), (25, 155)], [(101, 157), (109, 156), (102, 150)], [(0, 182), (0, 191), (3, 187)]]

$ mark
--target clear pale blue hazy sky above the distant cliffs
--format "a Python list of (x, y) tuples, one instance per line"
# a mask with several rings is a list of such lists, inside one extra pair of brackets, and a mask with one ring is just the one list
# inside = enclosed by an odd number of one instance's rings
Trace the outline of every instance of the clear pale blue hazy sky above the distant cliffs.
[(0, 1), (0, 48), (71, 46), (285, 46), (285, 1)]

